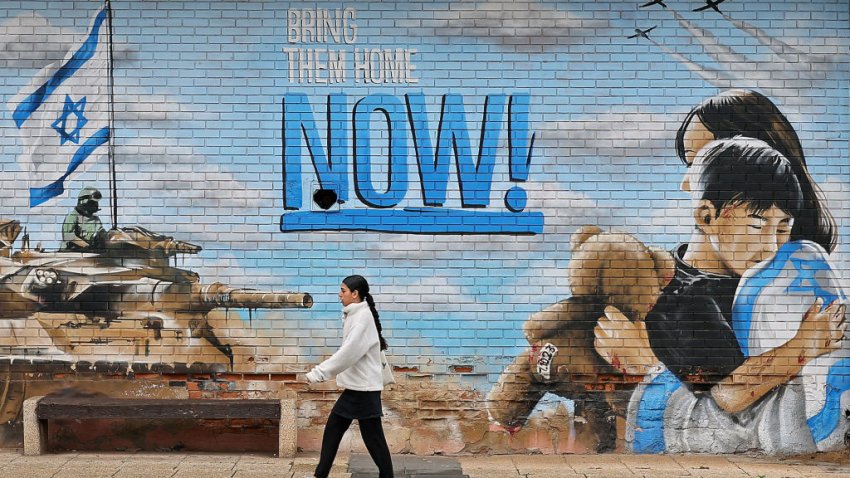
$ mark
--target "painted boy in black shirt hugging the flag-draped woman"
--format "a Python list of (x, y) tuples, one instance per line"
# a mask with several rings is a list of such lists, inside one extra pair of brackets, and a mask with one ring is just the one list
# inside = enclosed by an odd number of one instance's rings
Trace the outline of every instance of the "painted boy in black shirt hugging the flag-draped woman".
[(804, 207), (797, 178), (782, 154), (743, 137), (706, 145), (688, 174), (696, 228), (674, 251), (673, 281), (645, 323), (609, 307), (595, 329), (600, 355), (651, 375), (632, 398), (627, 441), (637, 452), (810, 451), (805, 410), (782, 405), (805, 403), (789, 382), (839, 347), (844, 306), (815, 301), (793, 338), (751, 357), (732, 323), (741, 275), (788, 242)]

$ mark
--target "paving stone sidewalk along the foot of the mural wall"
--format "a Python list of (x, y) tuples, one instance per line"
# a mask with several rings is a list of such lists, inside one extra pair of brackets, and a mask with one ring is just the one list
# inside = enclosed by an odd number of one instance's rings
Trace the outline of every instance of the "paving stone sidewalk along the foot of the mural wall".
[[(252, 454), (58, 453), (0, 450), (0, 478), (308, 478), (315, 453), (296, 458)], [(744, 455), (394, 455), (396, 478), (850, 477), (850, 457)], [(365, 454), (341, 454), (333, 478), (375, 478)]]

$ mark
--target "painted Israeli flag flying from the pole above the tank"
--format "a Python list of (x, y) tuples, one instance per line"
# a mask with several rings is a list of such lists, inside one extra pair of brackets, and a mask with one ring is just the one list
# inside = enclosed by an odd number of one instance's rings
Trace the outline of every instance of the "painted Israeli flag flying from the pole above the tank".
[(108, 6), (61, 63), (41, 69), (11, 103), (24, 133), (22, 163), (31, 171), (30, 207), (65, 191), (64, 182), (110, 137)]

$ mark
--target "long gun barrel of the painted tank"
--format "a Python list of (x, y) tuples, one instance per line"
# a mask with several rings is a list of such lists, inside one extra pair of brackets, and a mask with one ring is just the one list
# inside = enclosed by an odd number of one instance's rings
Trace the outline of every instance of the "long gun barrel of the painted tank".
[(313, 297), (304, 292), (266, 292), (237, 289), (221, 283), (196, 285), (200, 301), (214, 308), (233, 307), (245, 309), (307, 309), (313, 306)]

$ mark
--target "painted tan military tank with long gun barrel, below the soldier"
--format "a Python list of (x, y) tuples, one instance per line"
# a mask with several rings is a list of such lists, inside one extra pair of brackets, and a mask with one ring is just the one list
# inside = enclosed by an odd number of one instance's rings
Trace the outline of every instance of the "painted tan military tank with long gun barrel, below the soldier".
[(203, 283), (172, 264), (201, 247), (142, 227), (110, 230), (89, 252), (31, 248), (26, 234), (13, 251), (21, 231), (0, 220), (0, 357), (232, 367), (211, 311), (313, 304), (307, 293)]

